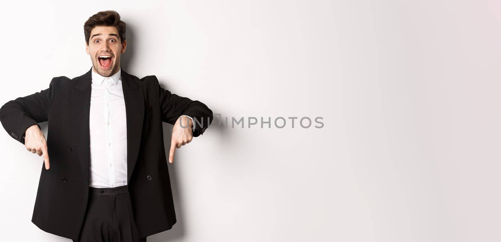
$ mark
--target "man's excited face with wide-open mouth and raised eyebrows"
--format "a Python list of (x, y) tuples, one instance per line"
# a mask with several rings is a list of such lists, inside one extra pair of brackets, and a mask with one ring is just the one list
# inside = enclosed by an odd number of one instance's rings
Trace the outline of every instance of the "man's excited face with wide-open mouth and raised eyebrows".
[(120, 54), (125, 52), (126, 40), (121, 43), (118, 29), (114, 26), (95, 26), (91, 30), (89, 45), (85, 50), (90, 55), (94, 70), (102, 76), (111, 76), (120, 68)]

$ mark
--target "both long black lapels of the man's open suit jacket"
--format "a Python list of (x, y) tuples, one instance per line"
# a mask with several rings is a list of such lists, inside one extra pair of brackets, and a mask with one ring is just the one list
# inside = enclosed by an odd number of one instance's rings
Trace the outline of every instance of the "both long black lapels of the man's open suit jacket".
[[(72, 89), (71, 95), (71, 119), (75, 124), (73, 135), (77, 145), (77, 153), (84, 177), (89, 184), (90, 165), (90, 100), (92, 67), (87, 73), (76, 77), (77, 84)], [(121, 68), (122, 90), (124, 93), (126, 125), (127, 125), (127, 184), (130, 181), (132, 171), (137, 160), (141, 141), (144, 96), (143, 88)]]

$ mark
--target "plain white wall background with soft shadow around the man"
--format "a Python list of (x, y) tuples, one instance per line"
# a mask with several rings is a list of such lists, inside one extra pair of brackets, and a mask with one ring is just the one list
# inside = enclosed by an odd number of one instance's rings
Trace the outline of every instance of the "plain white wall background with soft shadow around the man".
[[(213, 123), (168, 164), (178, 221), (148, 241), (499, 241), (500, 6), (9, 1), (0, 104), (88, 71), (83, 24), (116, 10), (127, 72), (223, 117), (324, 122)], [(31, 222), (43, 158), (0, 133), (1, 240), (70, 241)]]

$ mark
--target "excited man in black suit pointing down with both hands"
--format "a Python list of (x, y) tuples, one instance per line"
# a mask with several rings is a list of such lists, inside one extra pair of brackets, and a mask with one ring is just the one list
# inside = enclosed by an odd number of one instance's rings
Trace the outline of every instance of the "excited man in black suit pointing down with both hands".
[[(5, 130), (44, 157), (32, 222), (73, 241), (146, 241), (176, 222), (162, 121), (175, 148), (212, 121), (202, 102), (120, 67), (125, 22), (102, 11), (84, 24), (92, 68), (0, 108)], [(38, 122), (49, 121), (47, 139)], [(50, 157), (50, 160), (49, 160)]]

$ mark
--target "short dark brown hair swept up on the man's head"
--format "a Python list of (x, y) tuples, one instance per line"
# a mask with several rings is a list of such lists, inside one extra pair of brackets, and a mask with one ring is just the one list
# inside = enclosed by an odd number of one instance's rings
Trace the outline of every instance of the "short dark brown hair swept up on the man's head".
[(100, 11), (84, 23), (85, 42), (89, 45), (91, 31), (95, 26), (114, 26), (118, 29), (121, 43), (125, 40), (125, 22), (120, 20), (120, 14), (113, 10)]

